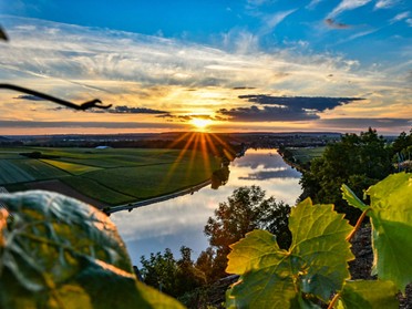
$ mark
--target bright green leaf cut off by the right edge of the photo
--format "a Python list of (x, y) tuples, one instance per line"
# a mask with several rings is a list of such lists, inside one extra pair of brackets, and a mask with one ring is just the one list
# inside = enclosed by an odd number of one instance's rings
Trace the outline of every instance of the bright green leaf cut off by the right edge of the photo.
[(390, 175), (367, 194), (371, 198), (373, 271), (404, 291), (412, 282), (412, 174)]

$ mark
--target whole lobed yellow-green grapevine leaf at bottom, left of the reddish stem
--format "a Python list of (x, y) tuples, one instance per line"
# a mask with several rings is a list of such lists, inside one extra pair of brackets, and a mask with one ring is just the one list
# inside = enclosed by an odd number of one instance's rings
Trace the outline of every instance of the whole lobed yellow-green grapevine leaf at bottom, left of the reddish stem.
[(306, 199), (289, 218), (292, 244), (279, 249), (275, 236), (254, 230), (231, 246), (227, 271), (241, 275), (227, 293), (229, 307), (310, 308), (307, 295), (328, 300), (349, 278), (353, 258), (346, 236), (352, 227), (332, 205)]

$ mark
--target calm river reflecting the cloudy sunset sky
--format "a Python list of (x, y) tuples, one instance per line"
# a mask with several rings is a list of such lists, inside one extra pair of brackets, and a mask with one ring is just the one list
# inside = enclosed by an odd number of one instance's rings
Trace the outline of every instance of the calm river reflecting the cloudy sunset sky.
[(258, 185), (266, 196), (295, 205), (301, 193), (300, 173), (287, 165), (276, 150), (248, 150), (230, 163), (229, 181), (218, 189), (204, 187), (194, 194), (111, 215), (126, 243), (134, 265), (142, 255), (171, 248), (179, 257), (181, 246), (193, 249), (193, 258), (208, 246), (204, 226), (219, 203), (240, 186)]

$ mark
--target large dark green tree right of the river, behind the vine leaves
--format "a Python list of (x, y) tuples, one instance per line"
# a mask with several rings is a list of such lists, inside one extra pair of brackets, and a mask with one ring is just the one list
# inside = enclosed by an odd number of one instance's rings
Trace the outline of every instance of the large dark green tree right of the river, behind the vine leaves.
[(326, 147), (322, 157), (311, 162), (310, 171), (303, 171), (300, 199), (311, 197), (315, 203), (334, 204), (354, 224), (360, 212), (342, 202), (340, 187), (350, 186), (357, 195), (383, 179), (393, 171), (391, 150), (382, 136), (369, 128), (360, 135), (346, 134), (341, 141)]

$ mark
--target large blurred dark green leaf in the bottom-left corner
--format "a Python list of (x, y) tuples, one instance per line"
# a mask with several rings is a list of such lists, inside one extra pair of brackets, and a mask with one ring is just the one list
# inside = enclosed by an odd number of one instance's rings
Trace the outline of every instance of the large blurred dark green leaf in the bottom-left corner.
[(40, 190), (0, 202), (0, 308), (183, 308), (137, 284), (114, 224), (96, 208)]

